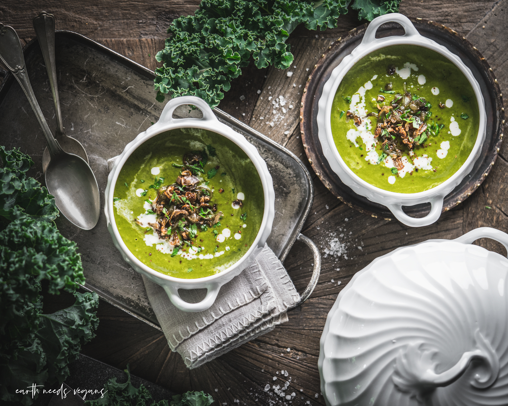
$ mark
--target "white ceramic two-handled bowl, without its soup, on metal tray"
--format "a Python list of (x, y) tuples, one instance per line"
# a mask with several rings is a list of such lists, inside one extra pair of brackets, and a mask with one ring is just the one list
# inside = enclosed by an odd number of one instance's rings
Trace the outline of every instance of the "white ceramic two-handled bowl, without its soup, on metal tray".
[[(173, 118), (173, 112), (178, 106), (181, 105), (194, 105), (198, 107), (203, 113), (203, 118)], [(258, 234), (256, 235), (256, 239), (249, 247), (247, 252), (237, 262), (222, 272), (205, 278), (196, 279), (181, 279), (171, 277), (161, 274), (143, 264), (138, 258), (136, 258), (136, 256), (126, 247), (125, 243), (123, 242), (115, 223), (115, 216), (113, 211), (113, 195), (115, 184), (125, 161), (146, 140), (162, 132), (184, 127), (200, 128), (213, 131), (223, 137), (226, 137), (238, 145), (247, 154), (252, 163), (255, 165), (256, 170), (258, 171), (258, 175), (261, 178), (261, 183), (263, 185), (265, 202), (261, 227)], [(184, 312), (200, 312), (212, 306), (220, 287), (225, 283), (231, 281), (235, 276), (239, 275), (242, 270), (248, 266), (261, 252), (272, 230), (272, 223), (275, 215), (275, 192), (273, 190), (272, 177), (268, 172), (266, 162), (263, 160), (256, 147), (250, 144), (245, 139), (245, 137), (234, 131), (231, 127), (228, 127), (226, 124), (218, 121), (208, 104), (203, 99), (195, 96), (182, 96), (170, 100), (164, 107), (161, 118), (146, 131), (141, 132), (132, 142), (125, 146), (123, 152), (115, 160), (113, 170), (108, 176), (105, 200), (106, 204), (104, 206), (104, 212), (106, 214), (108, 230), (113, 238), (115, 247), (120, 251), (123, 259), (128, 262), (137, 272), (146, 276), (152, 282), (161, 285), (168, 294), (171, 302), (178, 309)], [(188, 303), (182, 300), (178, 294), (178, 289), (200, 288), (207, 289), (207, 293), (205, 298), (198, 303)]]

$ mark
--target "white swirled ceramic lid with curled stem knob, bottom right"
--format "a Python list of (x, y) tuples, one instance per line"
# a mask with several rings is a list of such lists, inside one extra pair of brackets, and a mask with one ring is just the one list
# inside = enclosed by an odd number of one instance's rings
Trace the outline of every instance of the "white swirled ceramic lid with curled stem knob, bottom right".
[(341, 291), (321, 338), (327, 404), (508, 404), (508, 260), (464, 244), (481, 236), (508, 244), (481, 228), (403, 247)]

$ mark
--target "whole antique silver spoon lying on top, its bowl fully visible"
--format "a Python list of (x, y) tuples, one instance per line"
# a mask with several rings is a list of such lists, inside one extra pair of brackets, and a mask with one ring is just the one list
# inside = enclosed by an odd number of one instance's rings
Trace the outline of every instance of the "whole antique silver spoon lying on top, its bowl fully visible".
[(56, 207), (77, 227), (84, 230), (93, 228), (101, 212), (97, 180), (83, 158), (63, 151), (53, 137), (28, 80), (19, 37), (14, 28), (2, 23), (0, 59), (21, 85), (46, 137), (50, 162), (45, 180), (49, 193), (55, 197)]

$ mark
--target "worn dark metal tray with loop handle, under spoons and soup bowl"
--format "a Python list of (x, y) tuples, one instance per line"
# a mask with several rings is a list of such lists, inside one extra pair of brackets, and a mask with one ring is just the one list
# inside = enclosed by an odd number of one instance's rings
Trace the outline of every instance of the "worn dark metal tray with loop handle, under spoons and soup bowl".
[[(164, 107), (155, 101), (152, 71), (71, 31), (56, 31), (55, 57), (63, 124), (88, 153), (104, 204), (108, 159), (119, 155), (138, 133), (157, 121)], [(56, 128), (46, 67), (37, 40), (24, 48), (26, 69), (50, 128)], [(42, 153), (46, 142), (28, 100), (11, 74), (0, 85), (0, 143), (20, 148), (34, 160), (29, 175), (44, 184)], [(268, 245), (281, 261), (298, 239), (314, 256), (314, 272), (302, 301), (312, 292), (321, 269), (315, 244), (300, 230), (314, 195), (310, 174), (292, 152), (227, 113), (214, 110), (220, 121), (242, 133), (266, 160), (275, 189), (275, 219)], [(60, 232), (78, 244), (86, 289), (157, 326), (141, 275), (123, 261), (107, 231), (101, 213), (89, 231), (72, 225), (63, 216), (56, 220)]]

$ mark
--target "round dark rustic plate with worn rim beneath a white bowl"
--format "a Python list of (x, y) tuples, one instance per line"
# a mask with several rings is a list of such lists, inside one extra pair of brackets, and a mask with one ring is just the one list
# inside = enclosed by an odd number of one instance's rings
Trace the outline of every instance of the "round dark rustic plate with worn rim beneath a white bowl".
[[(454, 30), (433, 21), (422, 20), (421, 18), (413, 18), (411, 21), (421, 35), (447, 47), (462, 59), (480, 84), (485, 99), (487, 135), (481, 155), (474, 164), (472, 171), (444, 198), (444, 212), (457, 206), (470, 196), (485, 180), (492, 165), (494, 165), (503, 137), (504, 110), (502, 95), (489, 64), (469, 41), (459, 36)], [(319, 62), (314, 65), (314, 70), (309, 76), (302, 96), (300, 110), (302, 142), (316, 175), (337, 198), (361, 213), (372, 217), (379, 216), (393, 219), (393, 214), (385, 206), (356, 194), (340, 181), (324, 157), (319, 138), (317, 138), (317, 103), (321, 97), (323, 86), (344, 56), (350, 54), (360, 44), (366, 27), (367, 24), (355, 28), (348, 33), (347, 37), (333, 43), (322, 55)], [(404, 30), (399, 24), (389, 23), (382, 25), (377, 30), (376, 37), (383, 38), (403, 35), (403, 33)], [(430, 204), (404, 207), (404, 212), (411, 217), (424, 217), (430, 212)]]

